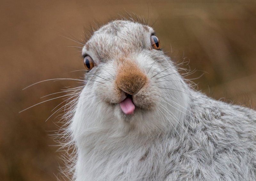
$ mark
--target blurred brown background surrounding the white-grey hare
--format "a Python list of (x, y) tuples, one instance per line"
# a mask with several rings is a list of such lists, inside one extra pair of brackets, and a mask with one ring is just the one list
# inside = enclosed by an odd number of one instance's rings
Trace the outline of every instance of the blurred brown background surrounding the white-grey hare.
[(50, 116), (64, 94), (41, 97), (81, 84), (46, 81), (22, 89), (47, 79), (83, 76), (75, 71), (84, 69), (76, 41), (84, 42), (84, 30), (95, 27), (94, 22), (104, 24), (126, 11), (148, 19), (166, 54), (175, 62), (189, 61), (181, 67), (199, 70), (185, 77), (198, 90), (228, 103), (256, 106), (255, 0), (2, 0), (1, 180), (57, 180), (61, 153), (49, 134), (60, 119)]

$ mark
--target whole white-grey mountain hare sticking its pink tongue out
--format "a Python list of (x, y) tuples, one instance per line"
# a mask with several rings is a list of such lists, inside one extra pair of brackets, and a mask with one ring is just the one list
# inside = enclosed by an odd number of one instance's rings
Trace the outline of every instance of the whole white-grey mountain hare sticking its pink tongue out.
[(111, 21), (82, 54), (74, 180), (256, 180), (256, 112), (194, 91), (151, 27)]

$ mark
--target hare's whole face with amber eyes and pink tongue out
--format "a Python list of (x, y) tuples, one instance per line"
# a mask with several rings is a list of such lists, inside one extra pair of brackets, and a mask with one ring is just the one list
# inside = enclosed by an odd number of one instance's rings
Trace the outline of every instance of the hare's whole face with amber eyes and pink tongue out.
[(82, 54), (88, 72), (74, 120), (148, 132), (182, 119), (187, 86), (151, 27), (112, 21), (93, 33)]

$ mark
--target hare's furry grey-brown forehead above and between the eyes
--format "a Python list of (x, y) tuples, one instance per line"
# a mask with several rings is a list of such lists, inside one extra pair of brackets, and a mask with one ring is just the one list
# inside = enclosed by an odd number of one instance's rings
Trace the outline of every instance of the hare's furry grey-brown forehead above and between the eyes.
[(83, 48), (83, 54), (93, 52), (104, 60), (114, 55), (127, 55), (150, 47), (153, 29), (131, 21), (116, 20), (93, 33)]

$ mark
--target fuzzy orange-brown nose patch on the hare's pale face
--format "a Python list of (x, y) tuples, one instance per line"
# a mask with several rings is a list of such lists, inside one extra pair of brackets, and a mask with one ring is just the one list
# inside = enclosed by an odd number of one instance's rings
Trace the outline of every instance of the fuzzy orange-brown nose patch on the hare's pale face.
[(116, 86), (128, 94), (136, 94), (147, 83), (148, 78), (135, 66), (131, 66), (129, 69), (125, 68), (120, 69), (117, 74)]

